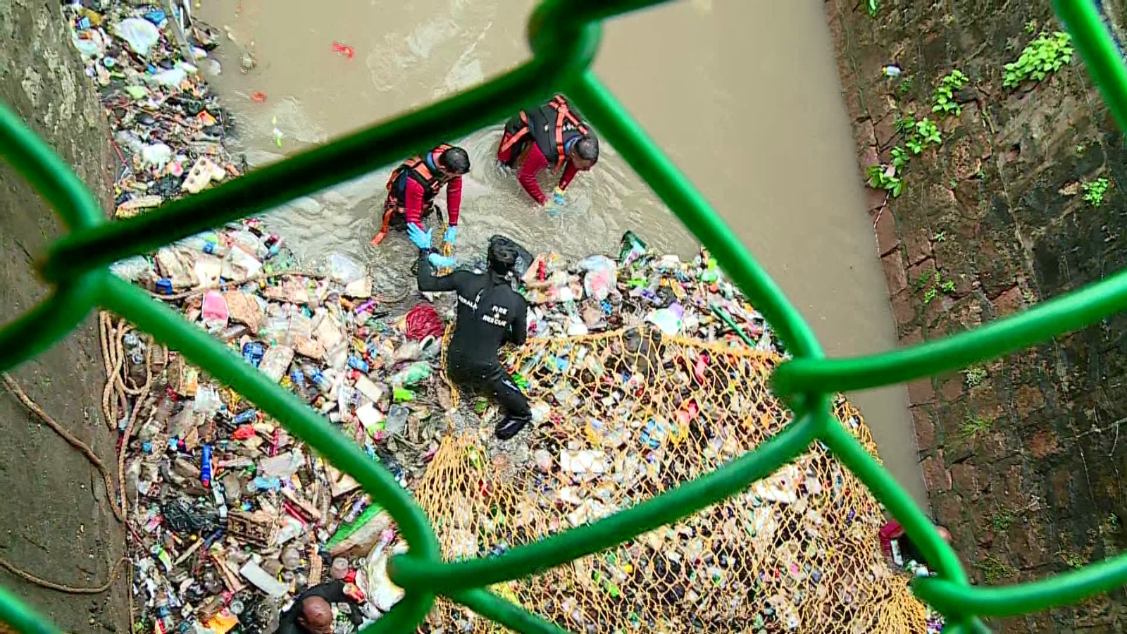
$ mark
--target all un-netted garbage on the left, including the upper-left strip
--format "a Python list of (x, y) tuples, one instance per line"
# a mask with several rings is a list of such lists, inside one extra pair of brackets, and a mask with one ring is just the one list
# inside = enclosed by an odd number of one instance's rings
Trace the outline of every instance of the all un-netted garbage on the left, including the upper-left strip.
[[(64, 5), (122, 161), (115, 218), (246, 170), (224, 149), (231, 117), (202, 72), (221, 71), (207, 56), (218, 35), (174, 5), (176, 16), (157, 5)], [(284, 240), (250, 219), (112, 268), (326, 414), (401, 482), (417, 477), (437, 448), (426, 423), (440, 420), (427, 385), (441, 318), (423, 305), (388, 319), (363, 266), (345, 256), (323, 271), (296, 266)], [(296, 592), (329, 579), (390, 607), (353, 583), (365, 561), (354, 556), (375, 561), (393, 536), (355, 481), (176, 352), (107, 314), (101, 322), (135, 627), (272, 632)]]

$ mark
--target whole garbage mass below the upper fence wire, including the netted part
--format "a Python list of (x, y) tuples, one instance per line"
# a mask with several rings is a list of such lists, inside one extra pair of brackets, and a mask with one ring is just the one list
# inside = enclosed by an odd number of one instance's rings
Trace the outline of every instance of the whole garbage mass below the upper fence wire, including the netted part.
[[(787, 422), (766, 387), (782, 356), (707, 252), (681, 263), (628, 235), (618, 261), (529, 257), (522, 288), (530, 331), (541, 336), (503, 361), (535, 424), (513, 450), (514, 441), (486, 440), (496, 407), (478, 398), (455, 410), (438, 380), (452, 302), (441, 314), (423, 302), (391, 315), (345, 256), (330, 256), (325, 271), (266, 272), (285, 257), (278, 244), (246, 220), (114, 270), (391, 469), (442, 526), (449, 557), (496, 555), (595, 521), (716, 469)], [(571, 294), (550, 296), (561, 289)], [(575, 336), (580, 324), (585, 336)], [(401, 598), (384, 564), (406, 544), (355, 481), (175, 352), (157, 353), (135, 333), (122, 342), (112, 382), (126, 406), (113, 420), (125, 439), (144, 626), (270, 632), (298, 593), (328, 579), (349, 583), (364, 618)], [(147, 396), (142, 385), (157, 387)], [(838, 408), (871, 449), (855, 411)], [(480, 431), (449, 435), (452, 419)], [(547, 573), (550, 583), (505, 591), (577, 631), (613, 623), (676, 632), (685, 614), (694, 627), (801, 632), (818, 610), (923, 631), (923, 606), (879, 560), (881, 523), (877, 502), (819, 446), (737, 499)], [(751, 595), (763, 598), (758, 611), (735, 599)], [(876, 614), (877, 605), (896, 609)], [(350, 631), (339, 616), (338, 632)], [(446, 604), (429, 623), (488, 629)]]

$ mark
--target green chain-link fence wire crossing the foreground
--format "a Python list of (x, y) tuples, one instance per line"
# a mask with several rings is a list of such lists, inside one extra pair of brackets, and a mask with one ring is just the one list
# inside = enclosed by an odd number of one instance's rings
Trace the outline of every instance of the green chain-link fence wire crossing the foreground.
[[(831, 448), (921, 545), (937, 576), (913, 582), (922, 600), (943, 613), (948, 632), (988, 632), (982, 616), (1011, 616), (1075, 602), (1127, 582), (1127, 554), (1037, 582), (973, 587), (951, 548), (896, 481), (833, 419), (829, 395), (935, 375), (1031, 345), (1127, 308), (1127, 271), (1020, 315), (946, 340), (852, 359), (825, 359), (814, 333), (762, 266), (704, 197), (657, 149), (589, 69), (603, 19), (660, 0), (547, 0), (529, 23), (533, 58), (483, 86), (420, 111), (252, 171), (198, 195), (128, 220), (108, 222), (73, 171), (0, 104), (0, 156), (55, 209), (70, 232), (39, 263), (53, 293), (0, 331), (0, 371), (42, 352), (99, 306), (122, 315), (215, 379), (237, 389), (338, 468), (349, 473), (396, 519), (410, 551), (392, 560), (391, 579), (403, 599), (367, 633), (409, 632), (442, 595), (512, 629), (559, 633), (557, 626), (497, 597), (491, 583), (533, 574), (609, 548), (699, 511), (743, 490), (818, 439)], [(1088, 70), (1120, 127), (1127, 130), (1127, 65), (1093, 0), (1055, 0)], [(706, 477), (595, 523), (521, 546), (488, 560), (441, 561), (434, 531), (409, 493), (378, 463), (199, 328), (107, 266), (124, 257), (265, 211), (293, 197), (369, 173), (451, 138), (535, 105), (553, 91), (568, 95), (771, 322), (793, 360), (772, 377), (772, 389), (795, 413), (782, 433)], [(59, 629), (0, 588), (0, 619), (21, 633)]]

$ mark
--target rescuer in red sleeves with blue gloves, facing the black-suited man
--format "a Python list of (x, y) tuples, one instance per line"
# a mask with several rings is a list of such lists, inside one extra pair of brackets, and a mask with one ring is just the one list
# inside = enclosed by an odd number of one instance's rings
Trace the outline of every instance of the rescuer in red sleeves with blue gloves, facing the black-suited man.
[(383, 224), (372, 238), (378, 245), (392, 223), (402, 222), (425, 229), (423, 219), (435, 211), (434, 199), (446, 187), (446, 234), (443, 240), (454, 244), (458, 238), (458, 214), (462, 206), (462, 175), (470, 170), (470, 156), (456, 146), (443, 143), (424, 156), (407, 159), (388, 179), (388, 199), (383, 203)]

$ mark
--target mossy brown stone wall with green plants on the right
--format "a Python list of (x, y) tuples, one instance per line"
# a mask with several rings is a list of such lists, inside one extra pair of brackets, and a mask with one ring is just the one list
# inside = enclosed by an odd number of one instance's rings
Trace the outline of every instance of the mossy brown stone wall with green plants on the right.
[[(1113, 19), (1127, 15), (1122, 0), (1106, 3)], [(876, 16), (868, 5), (826, 9), (858, 177), (876, 185), (869, 213), (900, 344), (1122, 268), (1127, 144), (1050, 3), (880, 0)], [(909, 385), (932, 512), (975, 582), (1041, 579), (1122, 552), (1125, 334), (1120, 315)], [(1122, 632), (1127, 595), (993, 625)]]

